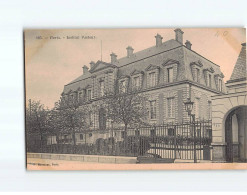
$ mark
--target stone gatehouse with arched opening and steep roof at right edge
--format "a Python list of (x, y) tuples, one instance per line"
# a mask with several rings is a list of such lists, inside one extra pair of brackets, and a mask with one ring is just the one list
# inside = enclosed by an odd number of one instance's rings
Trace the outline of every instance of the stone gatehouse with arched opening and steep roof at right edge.
[(226, 82), (227, 94), (212, 97), (213, 161), (247, 160), (246, 43)]

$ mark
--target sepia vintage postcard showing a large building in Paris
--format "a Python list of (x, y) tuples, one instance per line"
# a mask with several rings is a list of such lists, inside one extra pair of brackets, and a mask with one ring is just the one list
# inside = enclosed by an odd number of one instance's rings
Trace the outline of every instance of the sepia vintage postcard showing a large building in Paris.
[(247, 168), (245, 28), (26, 29), (28, 170)]

